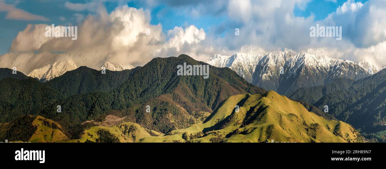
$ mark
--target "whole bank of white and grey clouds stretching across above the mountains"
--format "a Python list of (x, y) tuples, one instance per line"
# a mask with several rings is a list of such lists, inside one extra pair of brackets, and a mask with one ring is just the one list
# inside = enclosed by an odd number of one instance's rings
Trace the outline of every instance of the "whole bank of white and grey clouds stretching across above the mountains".
[[(285, 48), (357, 63), (366, 59), (379, 67), (386, 64), (384, 0), (364, 3), (347, 0), (325, 19), (316, 21), (313, 14), (309, 17), (294, 14), (295, 8), (304, 10), (310, 0), (134, 0), (144, 8), (120, 5), (112, 12), (107, 12), (102, 2), (65, 3), (64, 7), (74, 12), (93, 10), (77, 25), (76, 41), (68, 37), (45, 37), (45, 24), (28, 25), (15, 37), (10, 52), (0, 56), (0, 67), (16, 66), (19, 71), (29, 73), (57, 60), (71, 60), (78, 66), (91, 68), (98, 68), (105, 61), (141, 66), (154, 57), (182, 53), (205, 61), (217, 53), (264, 54)], [(157, 4), (169, 5), (193, 18), (205, 15), (227, 19), (212, 25), (210, 30), (190, 24), (164, 30), (161, 24), (151, 24), (151, 12)], [(342, 26), (342, 40), (310, 37), (310, 27), (316, 24)], [(239, 35), (235, 35), (236, 28)]]

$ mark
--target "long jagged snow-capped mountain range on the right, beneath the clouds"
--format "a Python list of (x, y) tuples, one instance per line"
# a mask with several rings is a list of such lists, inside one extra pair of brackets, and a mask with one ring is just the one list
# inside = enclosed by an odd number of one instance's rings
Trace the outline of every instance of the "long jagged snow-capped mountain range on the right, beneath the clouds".
[(332, 59), (319, 54), (296, 53), (290, 49), (263, 55), (215, 54), (207, 63), (228, 67), (253, 85), (288, 95), (299, 88), (327, 85), (337, 78), (361, 79), (378, 72), (376, 66), (362, 61)]

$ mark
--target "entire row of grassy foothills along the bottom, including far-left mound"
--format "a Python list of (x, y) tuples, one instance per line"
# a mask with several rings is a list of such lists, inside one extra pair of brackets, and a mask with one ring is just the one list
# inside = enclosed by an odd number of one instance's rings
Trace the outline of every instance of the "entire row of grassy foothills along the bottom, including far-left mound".
[[(120, 112), (114, 113), (119, 115)], [(326, 120), (274, 91), (231, 96), (203, 122), (197, 120), (193, 125), (166, 134), (125, 120), (128, 118), (107, 115), (103, 120), (83, 122), (85, 127), (79, 138), (69, 139), (68, 132), (58, 123), (40, 116), (25, 116), (0, 124), (0, 139), (31, 142), (363, 142), (361, 134), (351, 125)]]

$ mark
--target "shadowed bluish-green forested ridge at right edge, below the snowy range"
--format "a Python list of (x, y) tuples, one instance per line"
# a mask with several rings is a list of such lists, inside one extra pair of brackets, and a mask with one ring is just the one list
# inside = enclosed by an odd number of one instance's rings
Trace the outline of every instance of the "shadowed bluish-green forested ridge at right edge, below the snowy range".
[(329, 85), (304, 88), (291, 98), (309, 101), (339, 120), (360, 128), (364, 136), (386, 130), (386, 69), (357, 81), (337, 79)]

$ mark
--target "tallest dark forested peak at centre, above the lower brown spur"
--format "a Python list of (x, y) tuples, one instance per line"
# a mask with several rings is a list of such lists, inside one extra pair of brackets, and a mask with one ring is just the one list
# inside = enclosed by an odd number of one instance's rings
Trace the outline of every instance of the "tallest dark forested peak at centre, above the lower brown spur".
[(265, 91), (247, 83), (229, 68), (210, 66), (208, 79), (203, 79), (202, 76), (178, 76), (176, 74), (177, 65), (184, 62), (191, 65), (206, 64), (187, 55), (154, 58), (140, 68), (129, 81), (112, 91), (118, 100), (124, 100), (120, 103), (127, 104), (116, 106), (125, 108), (154, 96), (183, 92), (184, 95), (188, 93), (191, 95), (190, 97), (196, 97), (195, 99), (190, 98), (189, 101), (193, 103), (201, 101), (213, 109), (221, 101), (234, 94), (262, 93)]

